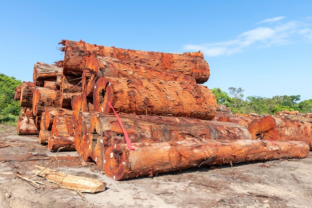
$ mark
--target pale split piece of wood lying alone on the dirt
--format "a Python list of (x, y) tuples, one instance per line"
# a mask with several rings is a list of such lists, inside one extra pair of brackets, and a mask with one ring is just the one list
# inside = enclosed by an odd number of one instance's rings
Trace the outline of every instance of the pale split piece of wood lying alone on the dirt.
[(85, 193), (103, 192), (106, 189), (106, 183), (99, 180), (64, 174), (57, 170), (41, 166), (35, 167), (38, 168), (38, 170), (33, 170), (33, 173), (45, 178), (49, 182), (59, 185), (60, 188)]

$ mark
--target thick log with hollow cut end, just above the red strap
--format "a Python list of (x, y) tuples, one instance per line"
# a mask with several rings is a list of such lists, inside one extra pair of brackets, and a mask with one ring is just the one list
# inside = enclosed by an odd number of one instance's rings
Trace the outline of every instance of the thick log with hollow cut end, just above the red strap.
[(212, 120), (217, 107), (205, 86), (143, 77), (99, 78), (93, 90), (94, 110), (105, 112), (109, 102), (119, 112), (204, 120)]

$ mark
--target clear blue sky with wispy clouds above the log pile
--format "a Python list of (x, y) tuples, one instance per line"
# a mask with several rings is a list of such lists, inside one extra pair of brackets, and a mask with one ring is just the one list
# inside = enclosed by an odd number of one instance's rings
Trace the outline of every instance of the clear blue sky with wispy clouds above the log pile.
[(32, 81), (62, 39), (159, 52), (202, 51), (208, 88), (312, 99), (311, 0), (0, 0), (0, 73)]

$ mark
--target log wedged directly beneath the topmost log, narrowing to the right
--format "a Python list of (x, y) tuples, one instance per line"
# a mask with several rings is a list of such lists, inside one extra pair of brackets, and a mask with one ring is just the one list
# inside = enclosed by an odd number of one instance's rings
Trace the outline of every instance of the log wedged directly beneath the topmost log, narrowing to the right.
[(145, 77), (147, 79), (162, 79), (196, 84), (194, 77), (184, 75), (180, 72), (159, 70), (150, 65), (146, 66), (139, 63), (126, 63), (112, 57), (96, 57), (94, 54), (91, 54), (87, 58), (85, 68), (87, 69), (82, 73), (82, 86), (86, 90), (87, 95), (91, 92), (94, 83), (100, 77)]

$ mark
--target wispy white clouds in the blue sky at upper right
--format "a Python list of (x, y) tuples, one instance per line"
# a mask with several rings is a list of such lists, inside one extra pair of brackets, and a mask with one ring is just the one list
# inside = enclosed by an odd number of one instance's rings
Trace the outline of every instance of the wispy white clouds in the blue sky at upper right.
[(244, 51), (244, 48), (272, 47), (274, 45), (292, 44), (297, 41), (312, 40), (311, 25), (300, 21), (277, 22), (285, 16), (265, 19), (263, 22), (275, 22), (272, 26), (257, 27), (238, 35), (236, 39), (204, 44), (187, 44), (184, 50), (202, 51), (205, 56), (231, 55)]

